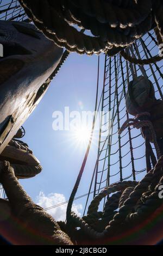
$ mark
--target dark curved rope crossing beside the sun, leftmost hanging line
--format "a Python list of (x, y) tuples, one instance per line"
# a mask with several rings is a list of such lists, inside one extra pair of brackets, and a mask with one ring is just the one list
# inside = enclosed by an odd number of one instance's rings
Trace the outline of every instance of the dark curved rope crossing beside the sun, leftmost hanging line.
[(78, 174), (76, 184), (74, 185), (71, 196), (70, 196), (70, 199), (68, 200), (67, 211), (66, 211), (67, 223), (71, 221), (71, 209), (72, 209), (73, 200), (74, 200), (74, 197), (77, 193), (78, 186), (79, 186), (80, 180), (81, 180), (83, 172), (84, 172), (85, 164), (86, 164), (87, 157), (89, 155), (89, 151), (90, 151), (90, 147), (91, 147), (91, 143), (92, 143), (93, 131), (94, 131), (94, 128), (95, 128), (95, 121), (96, 121), (96, 112), (97, 112), (98, 87), (99, 87), (99, 56), (98, 56), (96, 103), (95, 103), (95, 112), (94, 112), (95, 114), (94, 114), (94, 117), (93, 117), (92, 130), (91, 130), (91, 135), (90, 135), (90, 139), (89, 139), (89, 144), (87, 145), (87, 150), (86, 150), (84, 160), (83, 160), (83, 163), (82, 163), (82, 167), (80, 168), (80, 172)]

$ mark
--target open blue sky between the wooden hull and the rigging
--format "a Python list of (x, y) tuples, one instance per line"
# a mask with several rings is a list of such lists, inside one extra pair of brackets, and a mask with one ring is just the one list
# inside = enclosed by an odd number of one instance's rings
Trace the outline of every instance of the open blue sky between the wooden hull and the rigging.
[[(103, 54), (100, 61), (99, 92), (103, 86)], [(38, 201), (36, 198), (40, 191), (46, 196), (49, 193), (60, 193), (64, 194), (66, 200), (70, 197), (84, 158), (86, 144), (78, 144), (71, 131), (54, 131), (52, 114), (54, 111), (64, 112), (66, 106), (70, 107), (70, 111), (94, 111), (97, 64), (97, 56), (71, 53), (46, 95), (23, 125), (26, 129), (23, 141), (28, 143), (43, 167), (42, 173), (35, 178), (21, 180), (24, 189), (35, 202)], [(83, 109), (79, 102), (83, 103)], [(97, 143), (93, 143), (77, 196), (88, 191), (93, 172), (92, 162), (96, 161), (96, 157)], [(76, 202), (81, 203), (84, 206), (85, 198)]]

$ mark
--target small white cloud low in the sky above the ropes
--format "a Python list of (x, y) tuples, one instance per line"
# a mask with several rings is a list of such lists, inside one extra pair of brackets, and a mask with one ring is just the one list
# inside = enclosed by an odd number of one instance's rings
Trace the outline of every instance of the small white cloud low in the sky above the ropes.
[[(53, 205), (66, 202), (64, 194), (59, 193), (50, 193), (47, 196), (42, 191), (39, 193), (39, 196), (36, 198), (36, 204), (40, 205), (43, 209), (49, 208)], [(56, 221), (65, 221), (66, 219), (66, 208), (67, 204), (58, 206), (57, 208), (52, 208), (48, 210), (48, 214), (52, 215)], [(82, 210), (82, 204), (73, 204), (72, 211), (76, 212), (78, 216), (82, 214), (79, 212)]]

